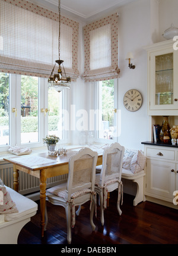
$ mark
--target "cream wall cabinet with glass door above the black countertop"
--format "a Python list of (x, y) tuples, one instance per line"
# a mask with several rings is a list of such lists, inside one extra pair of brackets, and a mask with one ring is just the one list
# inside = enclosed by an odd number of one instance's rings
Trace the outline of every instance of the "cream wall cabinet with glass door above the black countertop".
[(173, 40), (154, 43), (148, 54), (148, 115), (177, 115), (178, 51)]

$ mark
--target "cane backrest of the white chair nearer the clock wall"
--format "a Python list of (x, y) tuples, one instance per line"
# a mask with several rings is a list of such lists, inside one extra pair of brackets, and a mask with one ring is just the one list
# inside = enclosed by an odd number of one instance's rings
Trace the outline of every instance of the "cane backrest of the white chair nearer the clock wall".
[(119, 143), (112, 143), (103, 152), (103, 163), (100, 173), (100, 185), (110, 179), (121, 180), (122, 161), (125, 148)]

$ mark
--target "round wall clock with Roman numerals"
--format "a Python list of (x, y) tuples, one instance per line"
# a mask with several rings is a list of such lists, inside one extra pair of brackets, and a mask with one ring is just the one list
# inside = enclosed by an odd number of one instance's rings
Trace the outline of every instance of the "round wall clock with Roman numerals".
[(139, 110), (142, 105), (142, 95), (138, 90), (131, 89), (123, 96), (123, 105), (126, 110), (134, 112)]

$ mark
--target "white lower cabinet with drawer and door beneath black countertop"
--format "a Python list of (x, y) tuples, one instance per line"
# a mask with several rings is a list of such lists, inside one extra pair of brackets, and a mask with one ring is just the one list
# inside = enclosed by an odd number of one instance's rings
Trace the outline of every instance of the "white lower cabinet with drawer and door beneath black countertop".
[(145, 195), (173, 204), (173, 192), (178, 191), (178, 147), (151, 143), (144, 147), (147, 157)]

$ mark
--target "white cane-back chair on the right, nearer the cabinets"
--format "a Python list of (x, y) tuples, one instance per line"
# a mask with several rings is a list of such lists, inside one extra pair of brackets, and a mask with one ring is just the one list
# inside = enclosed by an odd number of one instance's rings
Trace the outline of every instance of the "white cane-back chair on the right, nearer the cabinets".
[(117, 211), (119, 215), (122, 214), (120, 199), (123, 192), (121, 174), (124, 151), (124, 147), (120, 146), (119, 143), (113, 143), (109, 148), (106, 148), (103, 152), (101, 172), (96, 174), (95, 191), (99, 195), (102, 225), (104, 225), (104, 208), (107, 207), (108, 192), (118, 189)]

